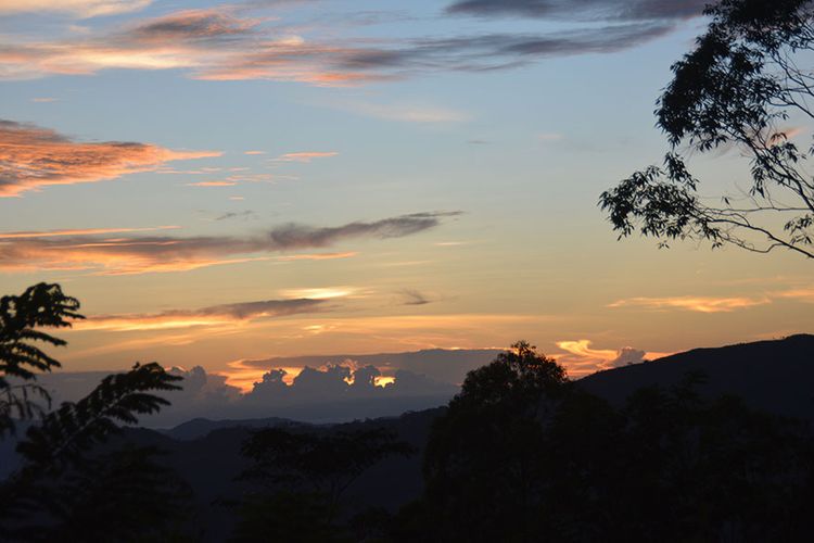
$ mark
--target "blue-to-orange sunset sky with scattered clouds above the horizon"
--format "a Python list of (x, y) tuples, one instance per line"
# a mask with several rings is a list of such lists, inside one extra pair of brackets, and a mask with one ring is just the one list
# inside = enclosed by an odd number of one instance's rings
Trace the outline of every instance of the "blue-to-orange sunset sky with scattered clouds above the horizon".
[[(618, 241), (597, 207), (666, 150), (702, 4), (0, 0), (0, 293), (81, 301), (66, 369), (244, 390), (275, 357), (526, 339), (578, 377), (811, 332), (804, 258)], [(735, 151), (691, 164), (748, 186)]]

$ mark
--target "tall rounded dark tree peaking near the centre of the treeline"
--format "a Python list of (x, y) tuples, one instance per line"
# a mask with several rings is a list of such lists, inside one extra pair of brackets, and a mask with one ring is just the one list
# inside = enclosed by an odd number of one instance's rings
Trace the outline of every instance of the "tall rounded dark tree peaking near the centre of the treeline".
[(570, 389), (564, 369), (523, 341), (470, 371), (433, 425), (419, 525), (433, 527), (438, 541), (539, 536), (544, 428)]

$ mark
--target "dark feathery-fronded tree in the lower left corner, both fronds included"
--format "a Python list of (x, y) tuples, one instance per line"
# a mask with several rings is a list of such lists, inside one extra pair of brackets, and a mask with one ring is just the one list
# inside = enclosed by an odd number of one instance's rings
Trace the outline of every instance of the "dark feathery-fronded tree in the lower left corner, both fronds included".
[(120, 425), (168, 405), (153, 392), (177, 390), (181, 378), (155, 363), (136, 364), (48, 412), (50, 396), (37, 376), (61, 364), (37, 343), (66, 342), (40, 328), (71, 326), (68, 319), (84, 318), (78, 310), (59, 285), (0, 299), (0, 438), (14, 431), (15, 420), (41, 418), (17, 444), (22, 467), (0, 482), (0, 540), (165, 541), (176, 530), (185, 483), (153, 460), (154, 450), (102, 445)]

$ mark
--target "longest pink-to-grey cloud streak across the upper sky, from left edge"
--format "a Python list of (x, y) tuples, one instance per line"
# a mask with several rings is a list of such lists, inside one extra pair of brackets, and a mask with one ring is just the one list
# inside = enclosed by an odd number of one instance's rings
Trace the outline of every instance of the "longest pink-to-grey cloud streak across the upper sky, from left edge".
[[(71, 39), (0, 42), (0, 78), (89, 75), (110, 68), (180, 70), (208, 80), (347, 86), (428, 72), (480, 72), (549, 56), (615, 52), (674, 28), (673, 22), (661, 18), (621, 18), (629, 22), (544, 34), (358, 39), (336, 37), (319, 24), (269, 24), (227, 8), (186, 10)], [(371, 113), (415, 122), (460, 119), (457, 113), (440, 110)]]

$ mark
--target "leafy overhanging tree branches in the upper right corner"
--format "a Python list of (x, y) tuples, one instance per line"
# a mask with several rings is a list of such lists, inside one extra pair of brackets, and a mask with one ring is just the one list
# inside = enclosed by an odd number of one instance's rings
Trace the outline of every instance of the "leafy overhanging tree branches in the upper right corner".
[[(658, 126), (671, 151), (603, 192), (614, 230), (638, 230), (666, 245), (705, 239), (759, 253), (790, 250), (814, 257), (814, 153), (791, 140), (814, 111), (814, 5), (804, 0), (723, 0), (694, 51), (675, 63), (658, 102)], [(792, 124), (789, 124), (792, 123)], [(750, 157), (750, 187), (701, 198), (685, 154), (736, 148)], [(685, 150), (683, 152), (683, 150)]]

